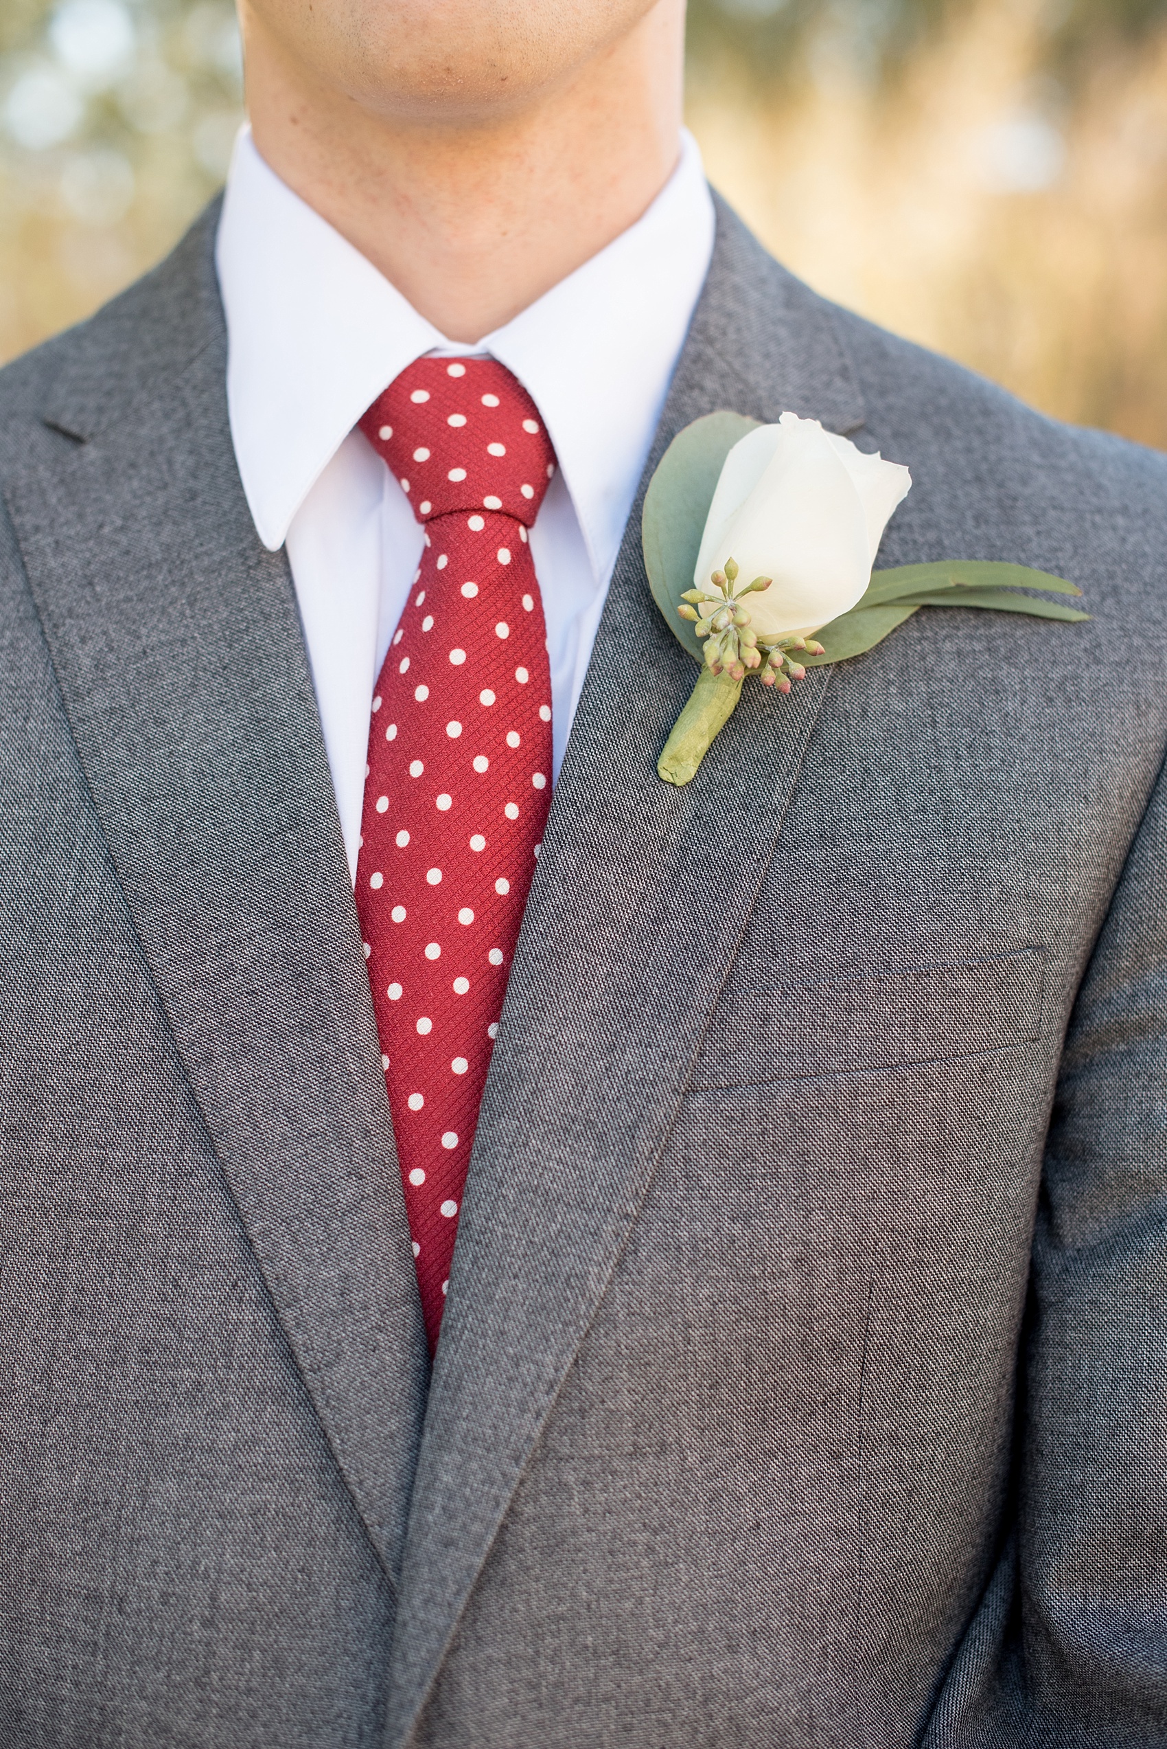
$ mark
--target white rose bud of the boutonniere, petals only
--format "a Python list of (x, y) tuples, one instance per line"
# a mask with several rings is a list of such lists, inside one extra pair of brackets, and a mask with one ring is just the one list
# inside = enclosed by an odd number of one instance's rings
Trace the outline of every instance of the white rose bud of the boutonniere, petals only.
[(887, 519), (910, 490), (907, 467), (783, 413), (725, 456), (694, 582), (708, 589), (732, 558), (737, 591), (774, 579), (744, 602), (758, 637), (809, 637), (865, 593)]

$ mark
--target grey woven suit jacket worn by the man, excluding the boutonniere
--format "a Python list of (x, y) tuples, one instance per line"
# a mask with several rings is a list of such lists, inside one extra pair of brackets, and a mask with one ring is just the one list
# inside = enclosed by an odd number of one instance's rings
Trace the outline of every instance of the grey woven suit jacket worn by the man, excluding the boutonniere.
[(715, 408), (907, 462), (917, 614), (655, 777), (629, 525), (433, 1376), (213, 213), (0, 376), (0, 1742), (1167, 1735), (1167, 465), (791, 280)]

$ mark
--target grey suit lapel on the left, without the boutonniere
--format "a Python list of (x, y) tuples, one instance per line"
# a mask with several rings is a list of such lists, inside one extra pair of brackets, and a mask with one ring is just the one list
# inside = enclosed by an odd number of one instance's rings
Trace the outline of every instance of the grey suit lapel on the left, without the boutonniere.
[(234, 469), (211, 240), (213, 213), (72, 343), (59, 436), (9, 505), (182, 1062), (393, 1574), (425, 1336), (295, 598)]

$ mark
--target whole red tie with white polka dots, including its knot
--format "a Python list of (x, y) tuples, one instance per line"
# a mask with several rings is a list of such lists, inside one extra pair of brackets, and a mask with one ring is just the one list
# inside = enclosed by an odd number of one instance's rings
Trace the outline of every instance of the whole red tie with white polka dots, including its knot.
[(418, 359), (360, 427), (426, 532), (372, 700), (356, 911), (433, 1352), (550, 806), (550, 666), (528, 528), (556, 451), (493, 359)]

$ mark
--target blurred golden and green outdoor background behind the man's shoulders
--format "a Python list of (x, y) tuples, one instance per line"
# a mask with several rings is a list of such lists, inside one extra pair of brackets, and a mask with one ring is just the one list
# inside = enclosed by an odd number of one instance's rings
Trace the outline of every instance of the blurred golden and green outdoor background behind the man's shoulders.
[[(211, 196), (225, 0), (3, 0), (0, 359)], [(830, 297), (1167, 448), (1167, 0), (690, 0), (711, 180)]]

